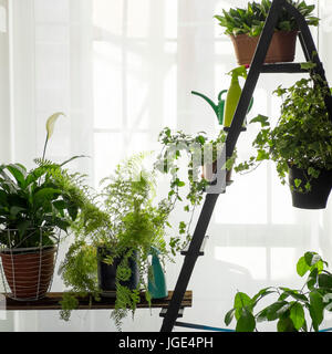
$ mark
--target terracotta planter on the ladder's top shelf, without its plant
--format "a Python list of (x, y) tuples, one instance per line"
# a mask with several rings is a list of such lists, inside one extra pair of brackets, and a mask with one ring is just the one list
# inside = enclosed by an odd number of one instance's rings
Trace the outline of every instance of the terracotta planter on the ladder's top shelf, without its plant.
[[(274, 32), (264, 63), (292, 62), (295, 58), (298, 31)], [(230, 35), (239, 65), (250, 65), (256, 52), (259, 35)]]

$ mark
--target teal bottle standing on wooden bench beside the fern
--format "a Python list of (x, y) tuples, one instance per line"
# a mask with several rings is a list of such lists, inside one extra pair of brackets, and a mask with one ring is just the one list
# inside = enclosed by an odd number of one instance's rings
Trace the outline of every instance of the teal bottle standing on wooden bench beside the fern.
[(148, 292), (152, 299), (165, 299), (168, 296), (165, 274), (158, 258), (159, 253), (155, 247), (152, 247), (152, 277), (148, 277)]

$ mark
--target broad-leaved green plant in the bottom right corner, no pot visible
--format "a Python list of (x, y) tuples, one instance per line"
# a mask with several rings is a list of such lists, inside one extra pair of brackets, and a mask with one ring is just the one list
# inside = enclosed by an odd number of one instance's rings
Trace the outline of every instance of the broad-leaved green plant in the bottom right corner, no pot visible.
[[(226, 325), (235, 319), (237, 332), (258, 332), (261, 322), (277, 322), (278, 332), (319, 332), (324, 312), (332, 311), (332, 273), (329, 264), (315, 252), (307, 252), (297, 263), (300, 277), (309, 273), (302, 289), (266, 288), (250, 298), (243, 292), (235, 296), (234, 309), (225, 316)], [(267, 296), (274, 300), (266, 306)], [(262, 301), (264, 299), (264, 301)], [(256, 309), (264, 303), (262, 310)], [(310, 317), (311, 323), (307, 319)]]

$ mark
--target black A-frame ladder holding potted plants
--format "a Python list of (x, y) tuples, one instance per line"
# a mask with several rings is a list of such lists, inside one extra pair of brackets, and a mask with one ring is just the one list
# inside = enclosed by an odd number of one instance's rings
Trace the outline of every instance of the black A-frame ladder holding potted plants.
[[(253, 95), (258, 79), (261, 73), (308, 73), (307, 70), (302, 69), (300, 63), (277, 63), (277, 64), (264, 64), (264, 59), (270, 46), (272, 35), (278, 23), (279, 15), (284, 8), (293, 18), (297, 20), (299, 25), (299, 40), (304, 52), (305, 60), (308, 62), (315, 63), (313, 71), (319, 74), (324, 82), (326, 82), (325, 72), (323, 65), (320, 61), (313, 38), (311, 35), (310, 29), (304, 17), (292, 7), (287, 0), (273, 0), (269, 15), (267, 18), (262, 34), (260, 37), (255, 56), (252, 59), (250, 70), (248, 73), (248, 79), (242, 90), (239, 104), (237, 106), (232, 124), (228, 131), (227, 140), (225, 144), (226, 158), (232, 156), (237, 140), (241, 133), (242, 125), (247, 115), (247, 111), (250, 104), (250, 100)], [(326, 83), (328, 85), (328, 83)], [(332, 97), (326, 97), (326, 107), (332, 119)], [(225, 155), (224, 154), (224, 155)], [(222, 155), (222, 154), (221, 154)], [(221, 166), (221, 164), (219, 165)], [(221, 171), (218, 170), (216, 179), (222, 178)], [(209, 192), (207, 189), (205, 202), (203, 205), (200, 216), (194, 231), (189, 248), (185, 254), (184, 263), (173, 293), (173, 298), (166, 311), (160, 313), (160, 316), (164, 317), (160, 332), (172, 332), (177, 323), (177, 319), (183, 315), (181, 300), (186, 293), (190, 277), (193, 274), (196, 261), (199, 256), (203, 256), (203, 244), (206, 239), (206, 231), (209, 226), (216, 202), (219, 198), (219, 195), (225, 192), (225, 188), (221, 188), (219, 192)]]

